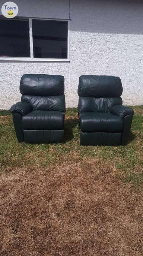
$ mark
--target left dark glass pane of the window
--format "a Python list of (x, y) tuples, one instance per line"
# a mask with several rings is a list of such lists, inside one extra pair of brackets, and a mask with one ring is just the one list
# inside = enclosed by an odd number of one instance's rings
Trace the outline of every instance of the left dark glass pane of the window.
[(0, 19), (0, 57), (30, 57), (29, 21)]

